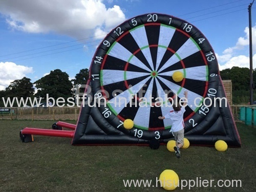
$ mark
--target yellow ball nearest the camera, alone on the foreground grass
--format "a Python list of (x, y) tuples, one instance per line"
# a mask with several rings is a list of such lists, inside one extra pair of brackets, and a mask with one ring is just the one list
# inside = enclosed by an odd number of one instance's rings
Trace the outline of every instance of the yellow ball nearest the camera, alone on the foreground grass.
[(165, 190), (174, 190), (178, 186), (179, 176), (174, 172), (174, 170), (165, 169), (160, 174), (159, 180), (161, 181), (161, 186)]

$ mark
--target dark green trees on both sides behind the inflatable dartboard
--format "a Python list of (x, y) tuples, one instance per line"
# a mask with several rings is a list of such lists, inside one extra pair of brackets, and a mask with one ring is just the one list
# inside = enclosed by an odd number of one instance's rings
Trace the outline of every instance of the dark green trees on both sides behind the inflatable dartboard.
[[(253, 70), (253, 81), (256, 82), (256, 69)], [(232, 80), (232, 98), (234, 104), (246, 104), (249, 102), (249, 84), (250, 84), (250, 70), (248, 68), (232, 67), (231, 69), (224, 69), (220, 71), (223, 80)], [(59, 97), (67, 100), (69, 97), (74, 97), (75, 86), (77, 84), (86, 84), (89, 79), (89, 70), (81, 69), (75, 75), (74, 79), (69, 79), (66, 72), (59, 69), (53, 70), (49, 75), (46, 75), (35, 82), (31, 82), (30, 78), (23, 77), (22, 79), (14, 80), (3, 91), (0, 91), (0, 106), (4, 106), (2, 97), (18, 99), (23, 97), (49, 97), (55, 100)], [(35, 93), (35, 88), (37, 92)], [(84, 88), (80, 88), (80, 93), (84, 92)], [(255, 97), (254, 97), (255, 96)], [(253, 95), (256, 98), (256, 94)]]

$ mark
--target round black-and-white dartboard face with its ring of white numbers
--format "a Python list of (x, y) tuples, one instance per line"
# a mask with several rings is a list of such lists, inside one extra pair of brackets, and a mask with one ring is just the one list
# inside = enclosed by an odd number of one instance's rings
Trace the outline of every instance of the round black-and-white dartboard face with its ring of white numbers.
[[(183, 73), (181, 82), (172, 78), (176, 71)], [(171, 111), (170, 98), (184, 97), (185, 90), (185, 131), (194, 130), (212, 110), (202, 103), (217, 97), (220, 80), (216, 55), (205, 36), (185, 20), (156, 13), (113, 29), (99, 45), (90, 72), (90, 95), (106, 100), (95, 106), (99, 118), (115, 133), (144, 141), (172, 137), (172, 121), (157, 117)], [(125, 119), (134, 121), (133, 129), (124, 129)]]

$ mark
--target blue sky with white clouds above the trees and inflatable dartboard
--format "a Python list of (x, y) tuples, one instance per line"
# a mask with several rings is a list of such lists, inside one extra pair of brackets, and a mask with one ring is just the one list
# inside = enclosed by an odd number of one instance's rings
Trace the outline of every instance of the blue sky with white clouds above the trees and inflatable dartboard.
[[(73, 79), (90, 68), (101, 40), (127, 19), (146, 13), (173, 15), (208, 39), (219, 69), (249, 68), (249, 14), (253, 0), (0, 0), (0, 90), (55, 69)], [(256, 2), (252, 5), (256, 68)]]

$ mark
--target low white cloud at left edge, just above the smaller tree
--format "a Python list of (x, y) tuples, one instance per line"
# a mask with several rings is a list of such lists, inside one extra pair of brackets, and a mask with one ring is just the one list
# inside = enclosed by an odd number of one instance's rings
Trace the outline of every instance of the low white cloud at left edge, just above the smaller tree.
[(16, 65), (14, 62), (0, 62), (0, 90), (4, 90), (12, 81), (22, 79), (32, 72), (32, 67)]

